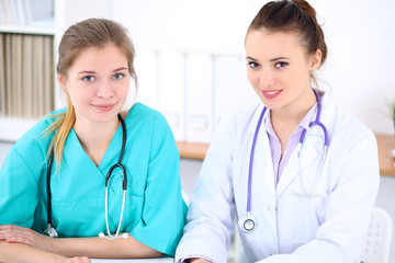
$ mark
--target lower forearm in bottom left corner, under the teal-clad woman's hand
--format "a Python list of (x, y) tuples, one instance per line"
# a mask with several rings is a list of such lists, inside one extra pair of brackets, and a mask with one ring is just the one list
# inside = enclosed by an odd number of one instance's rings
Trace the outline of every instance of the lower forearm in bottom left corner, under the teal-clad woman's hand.
[(2, 263), (57, 263), (65, 262), (65, 256), (36, 249), (23, 243), (9, 243), (0, 240), (0, 262)]

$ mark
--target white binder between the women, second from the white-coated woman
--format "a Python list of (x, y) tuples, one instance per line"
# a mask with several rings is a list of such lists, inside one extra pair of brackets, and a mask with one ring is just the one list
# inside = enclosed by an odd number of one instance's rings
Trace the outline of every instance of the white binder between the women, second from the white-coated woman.
[(187, 135), (190, 142), (210, 142), (213, 118), (213, 62), (210, 54), (187, 56)]

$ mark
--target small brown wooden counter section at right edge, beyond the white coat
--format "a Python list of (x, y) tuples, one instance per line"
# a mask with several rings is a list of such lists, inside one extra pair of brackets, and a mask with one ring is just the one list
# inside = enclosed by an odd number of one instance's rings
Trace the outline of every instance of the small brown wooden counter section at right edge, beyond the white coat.
[(376, 134), (379, 146), (380, 174), (395, 176), (395, 159), (392, 151), (395, 149), (393, 135)]

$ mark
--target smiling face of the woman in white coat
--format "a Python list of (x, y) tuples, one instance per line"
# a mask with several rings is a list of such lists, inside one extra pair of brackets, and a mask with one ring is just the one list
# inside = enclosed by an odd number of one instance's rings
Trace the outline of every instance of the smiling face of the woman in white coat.
[(246, 38), (248, 79), (263, 104), (273, 111), (313, 106), (311, 72), (320, 64), (320, 50), (307, 55), (297, 33), (251, 30)]

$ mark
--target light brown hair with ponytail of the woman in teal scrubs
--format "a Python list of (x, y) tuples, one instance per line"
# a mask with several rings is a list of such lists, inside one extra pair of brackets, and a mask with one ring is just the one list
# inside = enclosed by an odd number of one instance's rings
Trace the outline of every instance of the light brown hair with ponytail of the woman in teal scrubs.
[[(68, 70), (81, 52), (88, 47), (103, 48), (109, 44), (116, 45), (124, 53), (128, 72), (136, 83), (137, 78), (133, 67), (135, 49), (127, 36), (127, 31), (121, 24), (106, 19), (88, 19), (71, 25), (65, 32), (58, 48), (57, 73), (67, 78)], [(56, 130), (47, 155), (54, 150), (54, 159), (58, 169), (61, 164), (65, 141), (76, 123), (74, 105), (68, 94), (66, 98), (66, 113), (53, 114), (52, 117), (57, 119), (44, 132), (44, 135), (50, 135)]]

